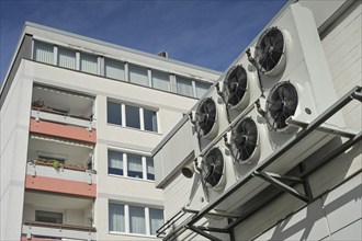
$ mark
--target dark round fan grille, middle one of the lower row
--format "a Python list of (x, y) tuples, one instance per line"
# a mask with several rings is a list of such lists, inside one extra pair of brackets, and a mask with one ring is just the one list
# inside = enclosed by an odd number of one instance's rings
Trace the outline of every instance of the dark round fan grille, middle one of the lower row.
[(258, 145), (258, 128), (250, 117), (244, 118), (234, 130), (233, 147), (238, 162), (251, 158)]

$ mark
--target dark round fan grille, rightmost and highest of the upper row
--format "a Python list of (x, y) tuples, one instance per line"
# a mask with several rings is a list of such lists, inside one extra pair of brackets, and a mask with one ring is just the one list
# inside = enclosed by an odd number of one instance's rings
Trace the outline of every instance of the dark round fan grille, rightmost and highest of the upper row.
[(284, 53), (284, 37), (281, 30), (267, 30), (257, 44), (257, 60), (261, 72), (269, 72), (275, 68)]

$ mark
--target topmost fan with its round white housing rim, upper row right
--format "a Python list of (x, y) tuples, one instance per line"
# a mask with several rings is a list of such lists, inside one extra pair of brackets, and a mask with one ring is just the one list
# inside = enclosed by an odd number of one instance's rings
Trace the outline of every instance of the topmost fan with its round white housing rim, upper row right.
[(286, 34), (276, 26), (265, 30), (256, 46), (256, 59), (261, 73), (278, 76), (286, 65)]

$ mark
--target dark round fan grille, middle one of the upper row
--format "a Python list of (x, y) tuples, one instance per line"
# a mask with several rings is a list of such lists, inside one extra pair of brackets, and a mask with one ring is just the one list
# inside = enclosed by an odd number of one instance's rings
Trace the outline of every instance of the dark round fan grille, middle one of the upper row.
[(237, 105), (247, 91), (248, 79), (245, 68), (242, 66), (233, 67), (226, 74), (224, 84), (227, 103), (231, 106)]

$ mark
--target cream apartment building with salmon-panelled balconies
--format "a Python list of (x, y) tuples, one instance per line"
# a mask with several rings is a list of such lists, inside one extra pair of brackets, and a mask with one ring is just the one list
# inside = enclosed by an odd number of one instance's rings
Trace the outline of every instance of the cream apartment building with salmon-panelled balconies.
[(1, 240), (154, 240), (151, 150), (219, 72), (25, 23), (1, 87)]

